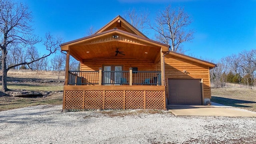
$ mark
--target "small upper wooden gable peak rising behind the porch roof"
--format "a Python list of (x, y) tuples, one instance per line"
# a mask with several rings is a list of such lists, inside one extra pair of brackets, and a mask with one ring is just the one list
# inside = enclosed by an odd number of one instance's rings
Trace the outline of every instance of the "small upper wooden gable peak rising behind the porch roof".
[(120, 15), (116, 16), (116, 18), (114, 18), (113, 20), (108, 22), (108, 24), (106, 24), (105, 26), (100, 28), (100, 30), (95, 32), (95, 34), (99, 34), (101, 32), (111, 30), (111, 29), (114, 29), (114, 28), (129, 32), (129, 33), (132, 33), (132, 34), (135, 34), (135, 35), (138, 35), (138, 36), (142, 36), (144, 38), (148, 38), (142, 32), (140, 32), (137, 28), (132, 26), (132, 24), (130, 24), (124, 18), (122, 18)]

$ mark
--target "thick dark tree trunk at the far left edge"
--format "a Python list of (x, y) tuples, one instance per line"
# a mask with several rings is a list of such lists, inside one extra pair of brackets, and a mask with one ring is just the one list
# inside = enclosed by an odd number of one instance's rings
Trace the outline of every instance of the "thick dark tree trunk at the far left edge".
[(7, 88), (7, 68), (6, 68), (6, 49), (2, 49), (2, 91), (6, 92)]

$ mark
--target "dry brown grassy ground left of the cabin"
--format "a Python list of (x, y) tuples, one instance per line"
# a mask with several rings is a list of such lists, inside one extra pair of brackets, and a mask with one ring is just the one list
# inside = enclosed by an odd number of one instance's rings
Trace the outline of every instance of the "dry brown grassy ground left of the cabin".
[[(48, 92), (44, 97), (0, 97), (0, 111), (37, 106), (44, 104), (62, 104), (64, 72), (10, 70), (8, 71), (7, 88), (15, 91)], [(2, 84), (1, 84), (2, 85)]]

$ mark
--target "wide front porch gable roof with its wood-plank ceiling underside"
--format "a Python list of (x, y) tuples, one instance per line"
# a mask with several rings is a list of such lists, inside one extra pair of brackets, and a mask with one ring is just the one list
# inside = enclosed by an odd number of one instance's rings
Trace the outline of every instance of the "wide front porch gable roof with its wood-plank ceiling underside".
[[(118, 38), (114, 38), (114, 35), (117, 35)], [(162, 44), (119, 29), (107, 30), (63, 43), (60, 46), (62, 51), (69, 51), (80, 62), (95, 58), (110, 58), (111, 56), (115, 56), (112, 53), (117, 48), (126, 52), (122, 58), (157, 62), (158, 59), (160, 60), (161, 50), (162, 52), (169, 51), (169, 45), (167, 44)], [(144, 52), (147, 53), (144, 54)]]

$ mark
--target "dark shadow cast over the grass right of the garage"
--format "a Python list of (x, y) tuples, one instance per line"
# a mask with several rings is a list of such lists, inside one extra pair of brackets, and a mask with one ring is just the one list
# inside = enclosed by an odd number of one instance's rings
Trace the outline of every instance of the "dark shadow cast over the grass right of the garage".
[(247, 101), (247, 100), (236, 100), (236, 99), (231, 99), (231, 98), (221, 98), (221, 97), (216, 97), (212, 96), (211, 99), (212, 102), (216, 102), (218, 104), (224, 104), (226, 106), (234, 106), (234, 107), (252, 107), (252, 106), (244, 106), (241, 104), (254, 104), (256, 102), (253, 101)]

